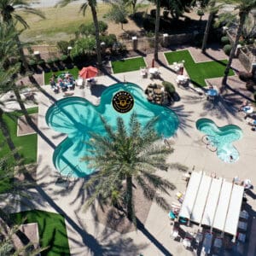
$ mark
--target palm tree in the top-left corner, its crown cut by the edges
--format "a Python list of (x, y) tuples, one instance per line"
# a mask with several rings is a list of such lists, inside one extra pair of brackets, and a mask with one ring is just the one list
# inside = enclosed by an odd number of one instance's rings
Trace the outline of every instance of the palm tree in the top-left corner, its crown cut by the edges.
[[(44, 18), (44, 15), (41, 11), (31, 8), (30, 3), (26, 2), (25, 0), (0, 0), (0, 15), (3, 23), (8, 23), (9, 25), (15, 27), (16, 22), (19, 22), (24, 27), (24, 29), (29, 28), (26, 20), (24, 20), (22, 16), (17, 13), (18, 10), (19, 12), (21, 11), (28, 14), (38, 15), (41, 18)], [(26, 71), (28, 71), (29, 67), (27, 65), (24, 50), (22, 48), (22, 44), (20, 43), (18, 34), (15, 36), (15, 41), (19, 49), (22, 64), (26, 68)]]

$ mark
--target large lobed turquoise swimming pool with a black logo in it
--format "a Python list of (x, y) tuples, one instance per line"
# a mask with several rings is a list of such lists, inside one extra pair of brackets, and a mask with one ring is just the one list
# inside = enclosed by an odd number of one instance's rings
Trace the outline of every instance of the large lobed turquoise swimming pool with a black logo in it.
[[(132, 96), (131, 111), (120, 113), (114, 108), (116, 107), (113, 106), (114, 96), (119, 96), (120, 91)], [(119, 99), (118, 104), (117, 107), (124, 107), (122, 98)], [(170, 108), (148, 102), (143, 90), (137, 84), (122, 83), (109, 86), (103, 91), (99, 106), (91, 104), (82, 97), (68, 97), (55, 102), (46, 113), (46, 123), (51, 129), (67, 134), (67, 137), (55, 148), (53, 154), (55, 168), (62, 175), (72, 177), (86, 177), (95, 172), (81, 160), (85, 154), (90, 154), (85, 143), (90, 140), (90, 132), (102, 135), (106, 133), (101, 116), (115, 128), (117, 117), (122, 117), (127, 125), (133, 112), (137, 113), (142, 125), (157, 116), (155, 130), (161, 136), (172, 137), (177, 131), (176, 113)]]

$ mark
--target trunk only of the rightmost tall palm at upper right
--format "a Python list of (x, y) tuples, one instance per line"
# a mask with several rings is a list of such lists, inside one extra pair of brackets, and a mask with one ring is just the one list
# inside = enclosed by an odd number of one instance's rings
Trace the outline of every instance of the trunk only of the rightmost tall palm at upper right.
[(246, 12), (240, 12), (239, 17), (240, 17), (240, 19), (239, 19), (240, 21), (239, 21), (239, 26), (238, 26), (238, 29), (237, 29), (237, 32), (236, 32), (236, 38), (235, 38), (233, 47), (230, 51), (230, 58), (229, 58), (229, 61), (227, 63), (226, 69), (224, 71), (224, 78), (222, 79), (222, 85), (224, 85), (224, 86), (227, 84), (228, 74), (230, 72), (230, 67), (231, 67), (232, 61), (233, 61), (234, 56), (235, 56), (235, 52), (236, 52), (237, 44), (239, 42), (239, 38), (241, 37), (241, 31), (242, 31), (242, 27), (244, 25), (244, 22), (246, 20), (247, 13)]

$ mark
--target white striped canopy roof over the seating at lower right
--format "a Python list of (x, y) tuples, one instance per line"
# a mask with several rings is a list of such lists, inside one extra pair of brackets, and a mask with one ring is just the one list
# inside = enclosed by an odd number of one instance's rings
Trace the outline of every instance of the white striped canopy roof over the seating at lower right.
[(203, 172), (192, 172), (179, 217), (236, 236), (244, 188)]

